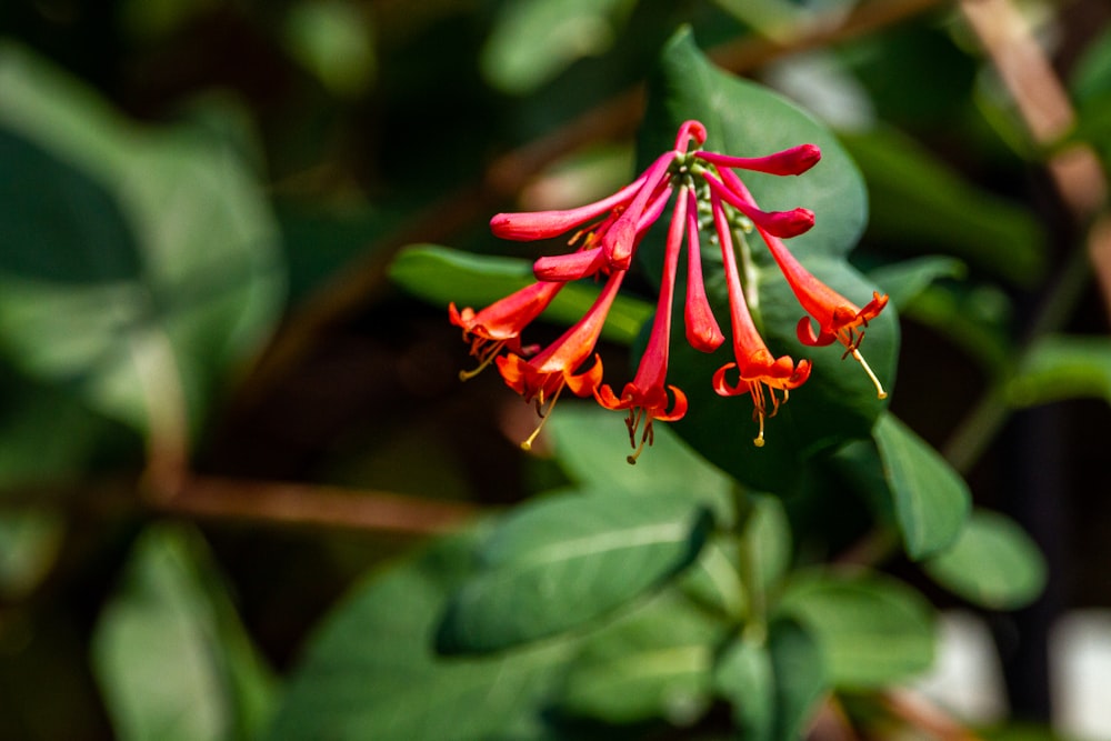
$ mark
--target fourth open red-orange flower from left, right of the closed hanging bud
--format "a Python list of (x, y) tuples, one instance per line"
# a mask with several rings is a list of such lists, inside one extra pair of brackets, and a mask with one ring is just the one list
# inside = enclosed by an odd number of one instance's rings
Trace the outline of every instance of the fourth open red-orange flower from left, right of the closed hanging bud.
[[(714, 228), (721, 242), (721, 257), (725, 268), (725, 283), (729, 288), (729, 312), (733, 328), (733, 354), (737, 362), (727, 363), (713, 374), (713, 389), (723, 397), (748, 393), (752, 397), (752, 417), (760, 423), (760, 431), (752, 440), (762, 448), (764, 444), (764, 419), (774, 417), (780, 403), (788, 400), (792, 389), (797, 389), (810, 378), (810, 361), (800, 360), (798, 366), (790, 356), (774, 358), (752, 322), (749, 304), (744, 300), (737, 254), (721, 200), (715, 192), (710, 193)], [(730, 384), (725, 374), (735, 368), (737, 383)], [(767, 390), (765, 390), (767, 389)], [(782, 399), (775, 394), (782, 392)], [(771, 411), (768, 411), (768, 398)]]

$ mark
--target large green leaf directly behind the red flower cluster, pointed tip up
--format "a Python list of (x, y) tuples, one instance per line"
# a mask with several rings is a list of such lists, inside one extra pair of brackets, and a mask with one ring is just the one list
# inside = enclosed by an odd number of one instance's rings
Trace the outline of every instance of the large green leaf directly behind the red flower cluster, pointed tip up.
[[(803, 176), (740, 174), (765, 209), (804, 206), (814, 211), (815, 227), (789, 240), (789, 247), (820, 280), (859, 306), (882, 288), (870, 284), (843, 259), (864, 227), (867, 194), (860, 173), (833, 134), (780, 96), (714, 68), (694, 46), (689, 30), (683, 30), (665, 47), (650, 82), (641, 160), (673, 146), (681, 122), (692, 118), (707, 126), (707, 149), (730, 154), (757, 156), (804, 142), (819, 144), (822, 161)], [(758, 299), (750, 302), (757, 324), (777, 356), (790, 353), (813, 362), (810, 380), (768, 421), (762, 448), (750, 442), (757, 425), (748, 397), (720, 399), (710, 387), (713, 372), (733, 360), (730, 342), (707, 356), (677, 341), (669, 380), (690, 400), (687, 417), (675, 425), (680, 434), (739, 481), (782, 493), (794, 487), (807, 459), (847, 439), (867, 437), (884, 402), (877, 399), (855, 362), (841, 361), (843, 348), (799, 343), (795, 327), (804, 312), (767, 248), (758, 239), (751, 241), (754, 284), (749, 292)], [(660, 247), (659, 238), (645, 238), (639, 251), (650, 274), (659, 272)], [(720, 258), (711, 261), (708, 257), (705, 271), (711, 302), (728, 331)], [(871, 322), (862, 347), (889, 390), (897, 347), (898, 323), (889, 307)]]

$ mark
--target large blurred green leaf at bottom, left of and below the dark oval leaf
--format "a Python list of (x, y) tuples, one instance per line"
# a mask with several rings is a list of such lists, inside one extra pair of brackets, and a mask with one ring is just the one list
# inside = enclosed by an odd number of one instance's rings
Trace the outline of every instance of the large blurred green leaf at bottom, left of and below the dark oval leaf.
[(478, 532), (433, 542), (369, 577), (314, 631), (268, 741), (544, 738), (573, 641), (483, 658), (433, 650), (448, 594), (472, 573)]

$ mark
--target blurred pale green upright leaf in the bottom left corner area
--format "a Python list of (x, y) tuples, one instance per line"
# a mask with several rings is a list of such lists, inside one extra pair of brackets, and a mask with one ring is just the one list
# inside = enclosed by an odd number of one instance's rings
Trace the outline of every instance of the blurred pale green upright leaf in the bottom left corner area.
[(274, 679), (254, 651), (200, 539), (174, 525), (137, 541), (92, 639), (118, 738), (253, 738)]

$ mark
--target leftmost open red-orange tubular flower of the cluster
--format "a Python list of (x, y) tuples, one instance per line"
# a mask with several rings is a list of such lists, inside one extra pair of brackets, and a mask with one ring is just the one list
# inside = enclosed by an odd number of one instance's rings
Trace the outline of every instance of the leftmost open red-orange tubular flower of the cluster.
[(470, 308), (459, 311), (451, 303), (448, 307), (448, 318), (452, 324), (463, 329), (463, 340), (470, 340), (471, 356), (479, 360), (474, 370), (459, 372), (460, 380), (473, 378), (486, 369), (502, 348), (528, 354), (521, 347), (521, 332), (548, 308), (563, 286), (538, 281), (491, 303), (478, 313)]

